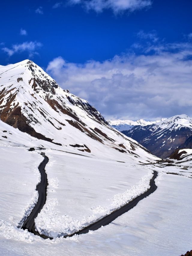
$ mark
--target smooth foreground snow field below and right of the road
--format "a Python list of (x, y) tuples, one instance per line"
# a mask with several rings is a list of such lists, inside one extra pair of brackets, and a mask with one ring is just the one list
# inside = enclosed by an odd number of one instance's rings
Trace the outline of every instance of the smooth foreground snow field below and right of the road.
[[(157, 182), (158, 181), (158, 182)], [(162, 173), (158, 189), (109, 225), (67, 239), (7, 227), (3, 255), (181, 255), (191, 248), (191, 179)], [(25, 239), (26, 237), (26, 239)]]

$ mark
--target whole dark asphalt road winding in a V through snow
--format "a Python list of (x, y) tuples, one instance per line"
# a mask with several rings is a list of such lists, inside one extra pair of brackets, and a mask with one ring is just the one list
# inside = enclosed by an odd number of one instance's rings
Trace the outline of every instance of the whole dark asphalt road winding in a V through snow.
[[(44, 204), (46, 203), (46, 192), (47, 192), (48, 181), (47, 181), (47, 175), (45, 172), (45, 166), (48, 163), (48, 161), (49, 161), (49, 158), (45, 156), (44, 161), (41, 162), (41, 164), (38, 167), (38, 169), (41, 173), (41, 182), (37, 185), (37, 188), (36, 188), (36, 190), (39, 193), (38, 201), (37, 201), (37, 204), (35, 205), (35, 207), (33, 208), (32, 212), (30, 213), (30, 215), (27, 217), (26, 221), (24, 221), (24, 223), (22, 225), (22, 229), (27, 229), (29, 232), (34, 233), (35, 235), (41, 236), (44, 239), (46, 239), (46, 238), (52, 239), (52, 238), (41, 235), (35, 230), (35, 218), (37, 217), (38, 213), (41, 212), (41, 209), (43, 208)], [(101, 218), (100, 220), (96, 221), (95, 223), (90, 224), (89, 226), (83, 228), (82, 230), (74, 232), (70, 235), (65, 236), (64, 234), (61, 234), (60, 236), (64, 236), (64, 238), (66, 238), (69, 236), (74, 236), (76, 234), (77, 235), (85, 234), (85, 233), (88, 233), (89, 230), (97, 230), (102, 226), (106, 226), (106, 225), (110, 224), (117, 217), (119, 217), (120, 215), (124, 214), (125, 212), (128, 212), (129, 210), (131, 210), (134, 206), (137, 205), (137, 203), (140, 200), (149, 196), (157, 189), (157, 186), (155, 185), (155, 178), (157, 176), (158, 176), (158, 172), (154, 171), (153, 177), (152, 177), (152, 179), (150, 179), (150, 182), (149, 182), (150, 188), (146, 192), (141, 194), (140, 196), (134, 198), (132, 201), (130, 201), (129, 203), (122, 206), (121, 208), (111, 212), (109, 215)]]

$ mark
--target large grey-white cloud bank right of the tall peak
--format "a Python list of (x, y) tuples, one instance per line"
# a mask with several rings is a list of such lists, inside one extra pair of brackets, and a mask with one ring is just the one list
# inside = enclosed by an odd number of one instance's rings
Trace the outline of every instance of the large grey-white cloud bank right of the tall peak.
[(192, 60), (188, 56), (192, 56), (188, 42), (159, 44), (140, 55), (124, 54), (104, 62), (76, 64), (58, 57), (46, 71), (106, 118), (191, 116)]

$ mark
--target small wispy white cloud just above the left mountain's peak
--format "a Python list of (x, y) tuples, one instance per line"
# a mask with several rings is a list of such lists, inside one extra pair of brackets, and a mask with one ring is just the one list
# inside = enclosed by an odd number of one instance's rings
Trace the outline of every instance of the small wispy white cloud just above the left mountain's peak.
[(33, 56), (34, 54), (38, 54), (34, 52), (37, 48), (41, 47), (42, 44), (39, 42), (23, 42), (22, 44), (13, 44), (11, 48), (4, 47), (2, 50), (8, 54), (8, 56), (12, 56), (14, 53), (21, 53), (24, 51), (29, 52), (29, 56)]

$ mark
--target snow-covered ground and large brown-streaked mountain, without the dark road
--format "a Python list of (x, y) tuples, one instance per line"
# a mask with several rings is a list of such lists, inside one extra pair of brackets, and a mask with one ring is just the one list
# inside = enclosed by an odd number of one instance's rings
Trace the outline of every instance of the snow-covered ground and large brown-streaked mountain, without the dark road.
[[(2, 255), (180, 255), (190, 249), (192, 152), (162, 161), (29, 60), (0, 66), (0, 73)], [(49, 158), (48, 186), (35, 229), (52, 240), (21, 229), (38, 200), (41, 152)], [(157, 190), (133, 209), (98, 230), (62, 237), (148, 191), (154, 171)]]

